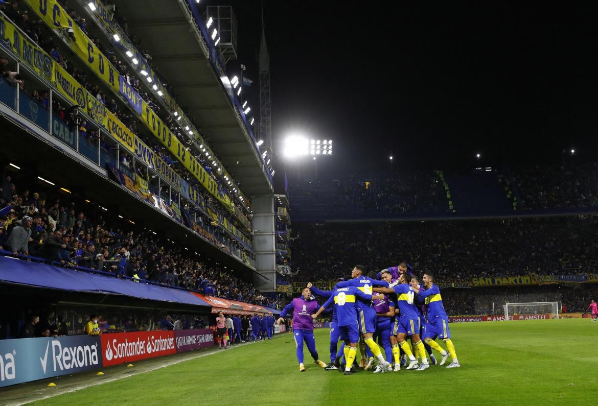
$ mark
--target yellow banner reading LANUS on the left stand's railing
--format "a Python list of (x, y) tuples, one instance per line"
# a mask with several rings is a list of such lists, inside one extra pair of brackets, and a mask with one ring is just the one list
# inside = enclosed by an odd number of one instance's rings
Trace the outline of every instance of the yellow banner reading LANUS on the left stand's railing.
[(0, 42), (19, 60), (26, 63), (48, 82), (54, 78), (54, 60), (33, 42), (29, 41), (10, 20), (0, 16)]

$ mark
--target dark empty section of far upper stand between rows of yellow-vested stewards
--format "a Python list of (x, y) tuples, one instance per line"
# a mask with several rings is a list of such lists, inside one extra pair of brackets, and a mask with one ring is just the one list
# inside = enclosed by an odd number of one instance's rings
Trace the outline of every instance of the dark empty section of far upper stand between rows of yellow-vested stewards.
[(445, 173), (457, 213), (512, 213), (511, 203), (496, 181), (495, 172)]

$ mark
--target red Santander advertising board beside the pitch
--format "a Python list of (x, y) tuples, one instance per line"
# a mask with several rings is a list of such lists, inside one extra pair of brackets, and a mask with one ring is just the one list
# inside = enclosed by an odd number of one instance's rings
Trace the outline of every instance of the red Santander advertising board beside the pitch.
[(100, 337), (104, 367), (176, 352), (173, 331), (117, 332)]

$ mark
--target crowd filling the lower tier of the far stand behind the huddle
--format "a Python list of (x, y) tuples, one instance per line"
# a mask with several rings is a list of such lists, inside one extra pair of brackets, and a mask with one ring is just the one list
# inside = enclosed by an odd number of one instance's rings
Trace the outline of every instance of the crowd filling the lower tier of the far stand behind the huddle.
[(587, 273), (598, 269), (598, 217), (295, 223), (296, 280), (347, 276), (409, 262), (439, 277)]

